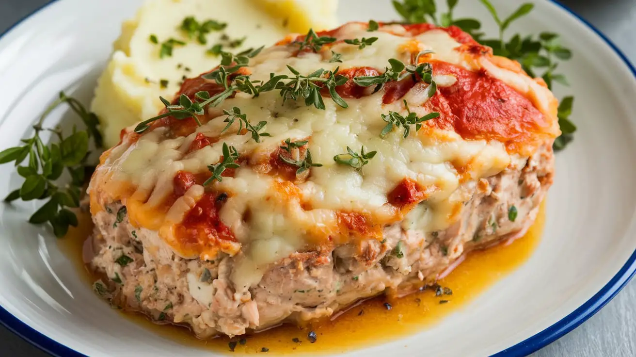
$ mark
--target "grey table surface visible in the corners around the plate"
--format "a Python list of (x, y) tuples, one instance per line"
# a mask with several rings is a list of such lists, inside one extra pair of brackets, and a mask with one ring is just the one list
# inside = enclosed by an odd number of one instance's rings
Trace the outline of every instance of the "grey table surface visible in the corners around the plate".
[[(636, 63), (636, 0), (562, 2), (597, 26)], [(45, 3), (48, 0), (0, 0), (0, 33)], [(48, 354), (0, 326), (0, 356)], [(532, 356), (636, 356), (636, 280), (579, 328)]]

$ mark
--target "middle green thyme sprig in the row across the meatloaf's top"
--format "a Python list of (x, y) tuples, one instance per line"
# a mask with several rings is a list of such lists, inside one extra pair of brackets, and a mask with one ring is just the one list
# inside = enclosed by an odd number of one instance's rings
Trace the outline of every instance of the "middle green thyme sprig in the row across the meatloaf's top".
[(320, 83), (329, 90), (331, 99), (338, 106), (349, 108), (349, 104), (336, 92), (336, 87), (347, 83), (347, 80), (349, 80), (347, 77), (338, 74), (338, 68), (335, 71), (326, 71), (321, 68), (307, 76), (301, 75), (294, 67), (287, 65), (287, 68), (294, 76), (287, 76), (286, 74), (275, 75), (272, 73), (270, 74), (270, 80), (258, 88), (259, 92), (279, 90), (283, 102), (287, 101), (287, 99), (296, 101), (302, 97), (305, 99), (305, 105), (313, 105), (317, 109), (325, 109), (320, 93), (322, 87), (318, 84)]

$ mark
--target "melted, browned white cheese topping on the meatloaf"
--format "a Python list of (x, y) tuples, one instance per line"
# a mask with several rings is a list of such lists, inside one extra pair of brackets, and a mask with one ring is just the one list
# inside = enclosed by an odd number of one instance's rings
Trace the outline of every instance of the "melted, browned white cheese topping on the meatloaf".
[[(509, 90), (516, 90), (515, 95), (499, 100), (509, 100), (513, 106), (516, 103), (534, 105), (527, 111), (534, 111), (540, 120), (534, 129), (524, 130), (520, 133), (523, 135), (512, 138), (523, 139), (523, 145), (511, 150), (512, 146), (507, 144), (511, 138), (484, 134), (492, 129), (483, 129), (483, 123), (478, 130), (485, 131), (477, 133), (478, 139), (462, 136), (457, 126), (465, 122), (460, 122), (459, 117), (451, 124), (443, 118), (438, 123), (431, 120), (422, 130), (411, 130), (406, 138), (402, 130), (394, 130), (382, 138), (379, 134), (386, 123), (380, 118), (381, 113), (397, 111), (406, 115), (403, 101), (385, 104), (384, 90), (375, 94), (369, 91), (359, 99), (346, 98), (347, 109), (327, 97), (324, 110), (305, 106), (302, 101), (283, 103), (276, 91), (258, 97), (237, 93), (218, 108), (209, 108), (209, 121), (204, 120), (202, 126), (194, 126), (190, 132), (175, 131), (184, 125), (177, 121), (157, 125), (141, 136), (132, 133), (133, 127), (128, 128), (122, 142), (102, 156), (102, 164), (93, 176), (92, 212), (121, 200), (128, 205), (133, 225), (157, 230), (179, 255), (214, 259), (219, 251), (230, 255), (240, 253), (233, 277), (239, 286), (249, 286), (259, 281), (263, 267), (294, 251), (329, 249), (357, 236), (382, 239), (378, 229), (399, 221), (403, 221), (404, 228), (443, 230), (457, 220), (458, 205), (470, 199), (471, 193), (458, 190), (462, 183), (493, 176), (509, 165), (523, 165), (539, 144), (558, 135), (556, 100), (549, 90), (522, 71), (506, 68), (511, 67), (509, 64), (501, 66), (500, 59), (490, 60), (494, 57), (483, 48), (475, 53), (471, 50), (474, 45), (459, 43), (450, 32), (429, 29), (411, 34), (402, 25), (385, 25), (380, 31), (370, 33), (366, 31), (366, 24), (354, 23), (330, 33), (338, 39), (375, 36), (378, 40), (361, 50), (338, 41), (319, 53), (298, 53), (298, 45), (283, 42), (252, 59), (249, 66), (252, 80), (268, 80), (270, 73), (291, 74), (288, 65), (301, 74), (336, 67), (341, 70), (372, 67), (381, 73), (391, 58), (410, 62), (420, 50), (433, 50), (425, 60), (478, 73), (478, 79), (488, 78), (497, 85), (514, 88)], [(328, 62), (332, 50), (342, 53), (341, 63)], [(439, 90), (447, 91), (448, 98), (466, 89), (457, 88), (458, 83), (466, 80), (457, 75), (436, 74), (434, 69)], [(422, 93), (425, 86), (418, 83), (403, 96), (410, 110), (418, 116), (437, 109), (435, 101), (445, 99), (439, 90), (433, 98), (427, 99)], [(475, 104), (471, 98), (467, 97), (466, 106)], [(221, 133), (226, 125), (222, 111), (233, 107), (240, 108), (252, 123), (265, 120), (267, 125), (263, 131), (271, 136), (261, 137), (261, 143), (256, 143), (249, 135), (237, 135), (238, 120)], [(448, 116), (455, 113), (446, 111)], [(493, 121), (501, 119), (492, 118)], [(514, 127), (523, 118), (503, 119)], [(200, 134), (214, 140), (190, 152)], [(276, 153), (287, 138), (308, 139), (305, 149), (311, 151), (313, 161), (322, 167), (312, 167), (307, 178), (296, 176), (290, 181), (280, 172), (277, 174), (271, 164), (262, 164), (270, 162), (272, 155), (276, 162)], [(189, 172), (193, 178), (196, 175), (209, 177), (207, 165), (219, 162), (223, 143), (237, 149), (241, 166), (221, 182), (214, 181), (204, 188), (200, 185), (202, 182), (197, 181), (182, 197), (176, 197), (177, 173)], [(377, 151), (377, 155), (361, 171), (355, 171), (347, 165), (336, 164), (333, 159), (345, 153), (347, 146), (356, 151), (364, 146), (366, 151)], [(305, 151), (295, 150), (293, 155), (306, 155)], [(406, 184), (409, 190), (417, 191), (417, 199), (407, 200), (399, 191), (396, 193)], [(219, 193), (226, 197), (209, 197), (205, 202), (211, 203), (200, 205), (205, 195)], [(391, 197), (406, 203), (396, 204), (391, 202)], [(425, 204), (417, 205), (423, 200)], [(214, 221), (210, 223), (211, 230), (205, 230), (208, 233), (197, 236), (196, 248), (186, 249), (183, 237), (176, 236), (175, 227), (190, 224), (185, 223), (186, 216), (193, 211), (205, 211), (205, 219)], [(212, 231), (216, 233), (209, 233)]]

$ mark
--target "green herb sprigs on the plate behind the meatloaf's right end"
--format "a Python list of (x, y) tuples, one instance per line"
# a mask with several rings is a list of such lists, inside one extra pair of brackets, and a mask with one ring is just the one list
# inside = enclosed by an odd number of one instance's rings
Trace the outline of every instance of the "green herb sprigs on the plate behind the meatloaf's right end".
[[(551, 32), (541, 32), (538, 38), (534, 35), (522, 37), (515, 34), (506, 41), (506, 30), (518, 18), (528, 15), (533, 9), (532, 3), (521, 4), (511, 15), (502, 19), (495, 7), (488, 0), (480, 0), (488, 9), (495, 23), (499, 27), (499, 36), (495, 39), (484, 38), (483, 32), (480, 32), (481, 22), (474, 18), (463, 18), (460, 20), (453, 19), (452, 11), (459, 0), (447, 0), (448, 13), (441, 13), (439, 19), (437, 16), (437, 7), (435, 0), (403, 0), (393, 1), (394, 8), (406, 22), (432, 22), (436, 25), (449, 26), (455, 25), (462, 30), (468, 32), (473, 38), (481, 43), (481, 45), (490, 46), (495, 55), (508, 57), (517, 60), (522, 64), (523, 70), (532, 77), (541, 77), (552, 89), (555, 82), (562, 85), (568, 85), (567, 79), (563, 74), (555, 73), (559, 65), (558, 60), (569, 60), (572, 52), (560, 44), (560, 38), (557, 34)], [(563, 101), (566, 101), (563, 98)], [(568, 99), (569, 100), (569, 99)], [(569, 103), (566, 102), (567, 106)], [(562, 126), (563, 139), (557, 138), (554, 149), (562, 150), (565, 145), (572, 141), (572, 134), (576, 130), (576, 125), (570, 122), (567, 116), (560, 116), (559, 123)], [(563, 130), (565, 128), (565, 130)], [(567, 134), (566, 134), (567, 133)]]

